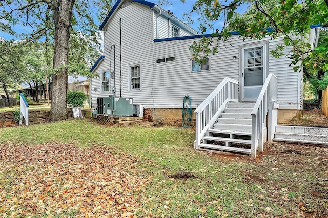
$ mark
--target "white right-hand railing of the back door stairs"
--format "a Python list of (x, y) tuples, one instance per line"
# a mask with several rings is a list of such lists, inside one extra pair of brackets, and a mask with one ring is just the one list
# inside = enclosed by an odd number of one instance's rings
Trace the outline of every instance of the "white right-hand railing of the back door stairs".
[(256, 149), (258, 148), (259, 144), (259, 151), (263, 151), (263, 123), (269, 110), (272, 110), (272, 103), (277, 101), (277, 82), (278, 78), (274, 74), (268, 75), (251, 113), (252, 158), (256, 158)]

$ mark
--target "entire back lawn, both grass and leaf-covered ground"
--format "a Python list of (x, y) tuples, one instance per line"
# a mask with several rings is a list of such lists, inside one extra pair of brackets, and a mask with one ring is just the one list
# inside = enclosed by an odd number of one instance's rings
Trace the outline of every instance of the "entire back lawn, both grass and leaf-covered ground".
[(194, 131), (71, 119), (0, 134), (0, 217), (328, 217), (328, 148), (193, 149)]

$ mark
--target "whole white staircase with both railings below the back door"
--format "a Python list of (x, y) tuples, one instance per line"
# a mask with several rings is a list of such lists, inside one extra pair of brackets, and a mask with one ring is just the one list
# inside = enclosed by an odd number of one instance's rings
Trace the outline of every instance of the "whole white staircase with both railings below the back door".
[(275, 75), (269, 74), (256, 102), (245, 103), (239, 102), (238, 81), (224, 78), (195, 110), (194, 148), (256, 158), (257, 151), (263, 152), (263, 142), (273, 138), (277, 81)]

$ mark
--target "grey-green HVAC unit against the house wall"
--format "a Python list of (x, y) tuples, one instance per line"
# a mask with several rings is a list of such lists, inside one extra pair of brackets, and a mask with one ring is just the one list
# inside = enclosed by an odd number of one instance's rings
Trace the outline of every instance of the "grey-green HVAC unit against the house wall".
[(118, 98), (110, 95), (106, 98), (97, 98), (97, 114), (107, 116), (133, 116), (132, 98)]

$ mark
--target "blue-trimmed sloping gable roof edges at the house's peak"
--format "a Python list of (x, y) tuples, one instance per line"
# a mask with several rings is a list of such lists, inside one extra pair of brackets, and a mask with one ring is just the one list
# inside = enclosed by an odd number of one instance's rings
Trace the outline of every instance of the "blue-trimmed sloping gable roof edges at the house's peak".
[[(120, 7), (120, 5), (124, 2), (125, 0), (118, 0), (115, 5), (113, 6), (112, 10), (107, 14), (107, 17), (104, 19), (103, 23), (100, 25), (99, 30), (104, 30), (104, 27), (106, 26), (108, 20), (111, 18), (111, 16), (113, 16), (113, 14), (115, 14), (116, 10)], [(179, 18), (177, 18), (176, 16), (174, 16), (173, 14), (167, 12), (165, 9), (159, 7), (158, 5), (156, 5), (155, 3), (152, 2), (148, 2), (145, 0), (130, 0), (132, 2), (136, 2), (145, 6), (148, 6), (150, 9), (153, 9), (154, 11), (156, 11), (157, 13), (162, 12), (161, 15), (165, 16), (167, 18), (170, 18), (174, 21), (174, 23), (178, 24), (179, 26), (185, 28), (186, 30), (190, 31), (190, 32), (194, 32), (194, 34), (197, 34), (197, 31), (194, 30), (192, 27), (188, 26), (187, 24), (185, 24), (183, 21), (181, 21)]]

